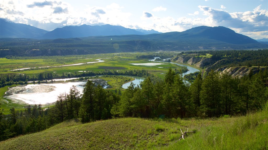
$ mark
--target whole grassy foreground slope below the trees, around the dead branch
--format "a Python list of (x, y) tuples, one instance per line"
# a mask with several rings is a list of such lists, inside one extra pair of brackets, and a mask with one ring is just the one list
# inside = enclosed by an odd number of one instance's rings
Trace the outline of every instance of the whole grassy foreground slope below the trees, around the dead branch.
[[(67, 121), (0, 143), (0, 149), (268, 149), (266, 109), (239, 117)], [(202, 125), (202, 126), (201, 126)], [(180, 128), (196, 133), (178, 141)]]

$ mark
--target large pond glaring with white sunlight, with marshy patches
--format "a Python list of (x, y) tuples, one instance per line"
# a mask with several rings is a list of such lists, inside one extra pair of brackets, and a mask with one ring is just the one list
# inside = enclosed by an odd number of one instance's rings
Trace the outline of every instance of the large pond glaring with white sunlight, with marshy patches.
[[(102, 85), (103, 88), (110, 88), (103, 79), (91, 79), (92, 82)], [(21, 101), (28, 104), (47, 104), (53, 103), (61, 93), (69, 93), (70, 88), (74, 85), (82, 94), (83, 86), (87, 81), (75, 81), (66, 83), (48, 83), (48, 84), (29, 84), (20, 85), (10, 88), (6, 92), (6, 98), (13, 100), (15, 103)]]

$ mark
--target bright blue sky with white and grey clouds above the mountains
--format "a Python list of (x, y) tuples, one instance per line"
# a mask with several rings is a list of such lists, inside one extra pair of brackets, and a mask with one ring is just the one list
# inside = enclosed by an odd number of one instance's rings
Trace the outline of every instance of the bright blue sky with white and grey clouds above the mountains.
[(110, 24), (165, 33), (204, 25), (268, 38), (268, 0), (0, 0), (0, 18), (47, 31)]

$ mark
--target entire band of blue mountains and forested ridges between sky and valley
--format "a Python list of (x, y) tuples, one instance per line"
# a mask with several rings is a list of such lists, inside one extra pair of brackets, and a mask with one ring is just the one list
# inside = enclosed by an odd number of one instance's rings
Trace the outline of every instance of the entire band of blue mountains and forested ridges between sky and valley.
[(0, 57), (268, 48), (266, 43), (223, 26), (199, 26), (182, 32), (158, 33), (122, 26), (81, 25), (48, 32), (1, 19), (0, 35)]

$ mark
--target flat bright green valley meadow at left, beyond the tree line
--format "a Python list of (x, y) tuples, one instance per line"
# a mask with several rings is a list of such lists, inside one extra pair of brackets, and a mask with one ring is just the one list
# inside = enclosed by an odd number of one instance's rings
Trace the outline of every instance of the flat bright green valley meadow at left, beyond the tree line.
[[(78, 72), (78, 71), (102, 71), (105, 69), (146, 69), (150, 73), (157, 76), (163, 77), (160, 73), (165, 73), (169, 67), (180, 69), (180, 66), (174, 64), (156, 65), (156, 66), (144, 66), (144, 65), (131, 65), (131, 63), (148, 63), (148, 59), (137, 60), (136, 56), (144, 55), (144, 53), (116, 53), (116, 54), (96, 54), (96, 55), (79, 55), (79, 56), (48, 56), (38, 57), (39, 59), (33, 59), (31, 57), (25, 57), (23, 60), (13, 60), (0, 58), (0, 73), (22, 73), (22, 74), (33, 74), (41, 72), (56, 72), (58, 74), (66, 72)], [(33, 68), (33, 67), (46, 67), (46, 66), (61, 66), (71, 65), (86, 62), (95, 62), (96, 59), (103, 59), (104, 62), (98, 62), (93, 64), (83, 64), (75, 66), (62, 66), (62, 67), (49, 67), (49, 68), (35, 68), (27, 70), (15, 70), (22, 68)], [(162, 67), (162, 68), (159, 68)]]

